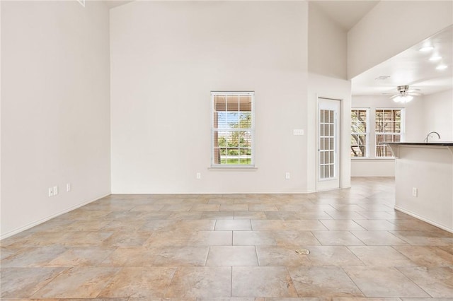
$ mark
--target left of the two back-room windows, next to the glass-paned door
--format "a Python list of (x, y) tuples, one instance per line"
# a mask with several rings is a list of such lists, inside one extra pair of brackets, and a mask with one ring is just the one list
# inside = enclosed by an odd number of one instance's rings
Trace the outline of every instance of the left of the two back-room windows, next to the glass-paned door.
[(351, 110), (351, 158), (368, 158), (369, 109)]

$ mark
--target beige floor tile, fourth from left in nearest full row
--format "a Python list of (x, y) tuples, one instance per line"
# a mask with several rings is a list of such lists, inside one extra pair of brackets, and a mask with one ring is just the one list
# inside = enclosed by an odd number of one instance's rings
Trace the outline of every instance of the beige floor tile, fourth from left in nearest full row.
[(176, 270), (166, 297), (230, 297), (231, 266), (181, 267)]

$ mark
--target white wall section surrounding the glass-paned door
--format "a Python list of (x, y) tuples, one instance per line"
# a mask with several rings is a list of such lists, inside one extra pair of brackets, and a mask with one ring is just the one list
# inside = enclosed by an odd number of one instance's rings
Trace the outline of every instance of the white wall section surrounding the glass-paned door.
[(340, 101), (340, 187), (350, 187), (350, 123), (351, 123), (351, 82), (309, 73), (307, 109), (307, 179), (309, 191), (316, 191), (316, 144), (317, 98), (332, 98)]

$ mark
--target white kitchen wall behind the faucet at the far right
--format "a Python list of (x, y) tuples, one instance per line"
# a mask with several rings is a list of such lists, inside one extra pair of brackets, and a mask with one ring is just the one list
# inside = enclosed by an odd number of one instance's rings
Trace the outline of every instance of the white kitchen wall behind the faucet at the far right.
[(423, 97), (423, 138), (430, 132), (430, 141), (453, 141), (453, 90)]

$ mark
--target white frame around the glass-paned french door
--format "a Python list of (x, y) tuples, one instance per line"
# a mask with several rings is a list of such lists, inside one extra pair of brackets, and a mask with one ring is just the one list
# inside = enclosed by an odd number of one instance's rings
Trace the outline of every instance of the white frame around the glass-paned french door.
[[(337, 178), (338, 178), (338, 187), (331, 188), (331, 189), (322, 189), (320, 190), (319, 187), (319, 100), (335, 100), (338, 101), (338, 118), (337, 118), (337, 126), (338, 126), (338, 136), (337, 136), (337, 146), (336, 150), (338, 152), (338, 173), (337, 173)], [(326, 190), (336, 190), (341, 188), (341, 174), (342, 174), (342, 156), (343, 152), (341, 151), (341, 146), (343, 145), (343, 139), (341, 138), (342, 136), (342, 127), (341, 127), (341, 120), (343, 119), (343, 111), (341, 110), (341, 107), (343, 105), (343, 98), (333, 98), (333, 97), (326, 97), (326, 96), (320, 96), (316, 94), (316, 167), (315, 167), (315, 190), (316, 191), (326, 191)]]

